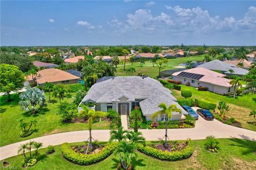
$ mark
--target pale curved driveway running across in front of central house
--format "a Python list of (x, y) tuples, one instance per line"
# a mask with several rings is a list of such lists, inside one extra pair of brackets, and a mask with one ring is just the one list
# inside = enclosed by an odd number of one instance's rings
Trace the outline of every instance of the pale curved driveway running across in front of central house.
[[(141, 129), (143, 136), (148, 141), (161, 140), (165, 134), (165, 129)], [(110, 130), (93, 130), (92, 136), (98, 141), (108, 141)], [(206, 136), (213, 135), (217, 138), (239, 138), (256, 141), (256, 132), (243, 128), (229, 126), (219, 122), (218, 120), (207, 121), (202, 117), (196, 121), (196, 127), (183, 129), (168, 129), (170, 140), (193, 140), (205, 139)], [(37, 142), (43, 142), (43, 147), (47, 145), (59, 145), (64, 142), (82, 142), (89, 137), (89, 131), (75, 131), (52, 134), (31, 139)], [(18, 147), (20, 144), (27, 143), (30, 140), (17, 142), (0, 148), (0, 160), (18, 155)]]

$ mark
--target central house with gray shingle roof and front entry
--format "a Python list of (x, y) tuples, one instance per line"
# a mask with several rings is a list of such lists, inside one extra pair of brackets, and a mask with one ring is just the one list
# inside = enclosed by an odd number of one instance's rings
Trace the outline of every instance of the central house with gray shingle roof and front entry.
[[(129, 115), (135, 106), (141, 108), (146, 120), (152, 120), (154, 112), (161, 110), (160, 103), (175, 104), (182, 113), (174, 112), (172, 120), (180, 120), (187, 112), (177, 103), (172, 92), (150, 77), (102, 77), (94, 84), (81, 103), (96, 103), (95, 110), (116, 110), (120, 115)], [(80, 109), (80, 108), (78, 108)], [(156, 120), (165, 120), (158, 116)]]

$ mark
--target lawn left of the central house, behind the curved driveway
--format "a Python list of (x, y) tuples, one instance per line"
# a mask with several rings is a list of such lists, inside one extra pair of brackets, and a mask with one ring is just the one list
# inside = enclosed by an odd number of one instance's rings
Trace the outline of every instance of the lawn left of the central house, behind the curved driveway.
[[(48, 93), (46, 95), (48, 99)], [(18, 94), (12, 94), (11, 98), (13, 101), (5, 102), (7, 100), (7, 96), (0, 96), (1, 147), (3, 145), (24, 141), (39, 136), (89, 129), (88, 125), (85, 123), (62, 123), (61, 117), (56, 114), (59, 99), (51, 98), (52, 102), (47, 103), (46, 108), (39, 110), (36, 115), (30, 115), (29, 112), (26, 113), (20, 109)], [(64, 99), (64, 101), (70, 102), (72, 100), (72, 98)], [(20, 137), (19, 134), (21, 129), (17, 124), (17, 119), (19, 118), (25, 118), (25, 120), (36, 119), (36, 128), (38, 128), (38, 132), (34, 132), (28, 137)], [(109, 122), (102, 121), (93, 124), (93, 129), (109, 129), (109, 126)]]

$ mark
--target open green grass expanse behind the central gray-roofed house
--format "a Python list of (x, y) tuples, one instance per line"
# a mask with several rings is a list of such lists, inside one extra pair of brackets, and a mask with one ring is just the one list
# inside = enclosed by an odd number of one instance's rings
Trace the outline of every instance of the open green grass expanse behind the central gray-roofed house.
[[(170, 70), (170, 69), (177, 69), (174, 68), (175, 66), (179, 66), (180, 63), (185, 63), (187, 61), (202, 61), (203, 56), (188, 56), (183, 58), (176, 58), (176, 59), (169, 59), (167, 63), (167, 67), (161, 71), (164, 70)], [(131, 62), (126, 62), (125, 68), (131, 68), (134, 67), (136, 72), (133, 75), (137, 75), (138, 72), (141, 72), (142, 74), (147, 74), (150, 77), (156, 77), (158, 76), (158, 68), (152, 66), (152, 63), (150, 61), (146, 61), (145, 64), (143, 64), (143, 67), (140, 67), (140, 62), (134, 62), (133, 64)], [(124, 65), (117, 66), (117, 72), (115, 73), (115, 76), (128, 76), (126, 72), (123, 70)]]

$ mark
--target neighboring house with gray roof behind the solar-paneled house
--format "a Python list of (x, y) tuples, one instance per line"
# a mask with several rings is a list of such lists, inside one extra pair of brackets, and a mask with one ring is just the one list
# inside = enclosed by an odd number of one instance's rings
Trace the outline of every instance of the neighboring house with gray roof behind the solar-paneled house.
[[(210, 62), (206, 62), (204, 64), (201, 64), (197, 67), (203, 67), (209, 70), (218, 70), (221, 71), (222, 74), (225, 74), (227, 76), (239, 76), (239, 77), (243, 77), (245, 74), (247, 74), (249, 71), (245, 70), (243, 68), (239, 68), (237, 66), (235, 66), (234, 64), (230, 64), (230, 63), (226, 63), (220, 60), (213, 60)], [(234, 72), (230, 73), (228, 70), (232, 69)]]

